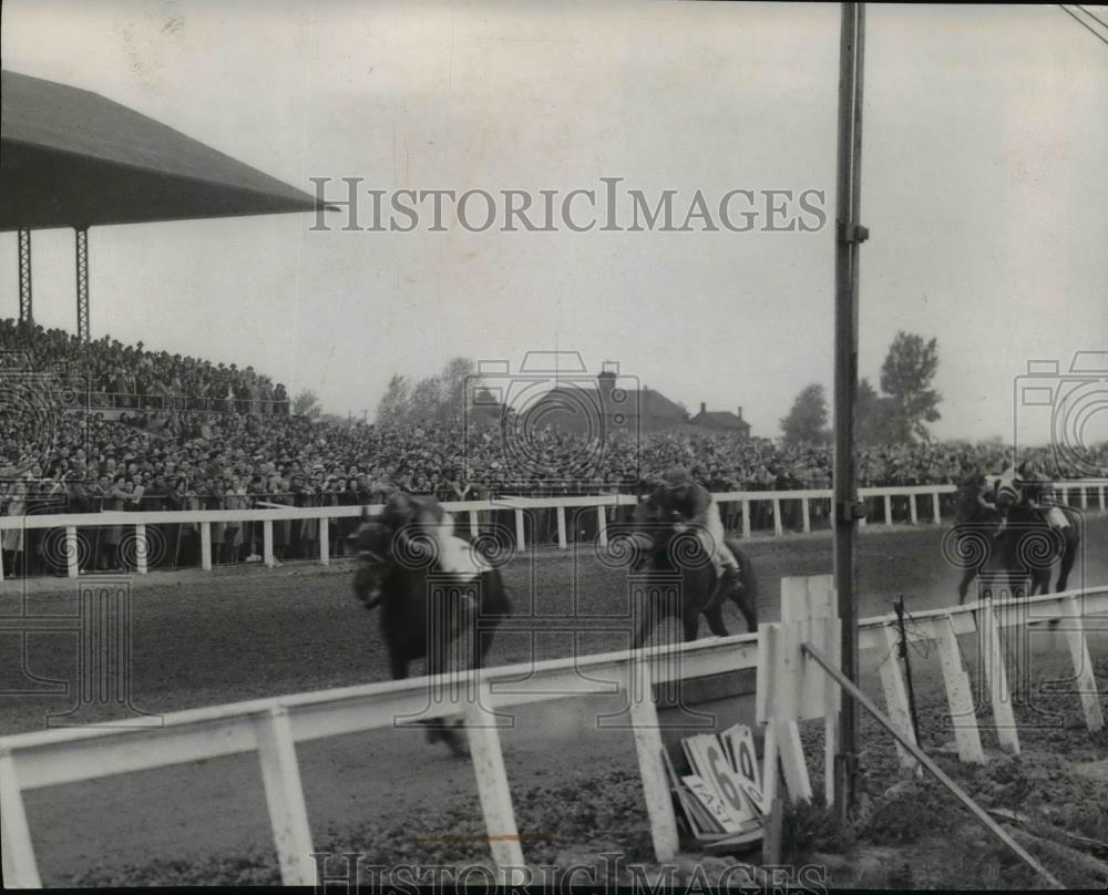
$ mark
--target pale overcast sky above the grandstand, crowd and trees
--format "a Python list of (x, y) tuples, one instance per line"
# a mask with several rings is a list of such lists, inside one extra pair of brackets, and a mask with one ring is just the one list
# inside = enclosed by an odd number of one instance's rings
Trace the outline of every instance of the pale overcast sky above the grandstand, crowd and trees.
[[(811, 189), (834, 219), (838, 4), (2, 12), (6, 69), (101, 93), (308, 192), (309, 177), (336, 191), (360, 177), (564, 195), (622, 177), (652, 204), (675, 191), (679, 218), (698, 189), (709, 207), (732, 189)], [(1059, 361), (1069, 387), (1075, 351), (1108, 349), (1108, 45), (1057, 7), (879, 4), (864, 83), (860, 373), (876, 382), (899, 330), (935, 337), (932, 432), (1009, 438), (1028, 361)], [(375, 233), (332, 217), (329, 232), (312, 215), (93, 228), (92, 335), (252, 364), (370, 418), (393, 373), (454, 356), (514, 370), (555, 347), (693, 412), (741, 405), (756, 435), (780, 434), (809, 382), (830, 393), (832, 224)], [(39, 322), (75, 327), (72, 258), (71, 230), (34, 234)], [(0, 234), (0, 313), (17, 308), (16, 236)], [(1108, 436), (1108, 408), (1092, 415)]]

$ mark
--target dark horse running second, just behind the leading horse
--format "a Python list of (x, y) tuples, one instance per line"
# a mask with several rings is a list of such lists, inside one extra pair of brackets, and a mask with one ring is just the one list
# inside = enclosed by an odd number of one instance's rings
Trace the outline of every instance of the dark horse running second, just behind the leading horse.
[[(647, 542), (648, 538), (648, 542)], [(632, 573), (645, 567), (646, 594), (642, 615), (634, 632), (632, 647), (642, 647), (658, 624), (676, 616), (681, 620), (686, 640), (696, 640), (700, 634), (700, 616), (708, 620), (708, 628), (717, 637), (727, 637), (724, 625), (722, 601), (708, 608), (716, 590), (716, 570), (700, 542), (679, 522), (649, 526), (648, 535), (639, 532), (628, 542), (633, 551)], [(647, 543), (649, 546), (647, 546)], [(739, 564), (741, 589), (731, 588), (728, 597), (735, 603), (747, 623), (747, 629), (758, 630), (758, 579), (750, 559), (731, 539), (727, 546)], [(674, 587), (679, 584), (679, 587)]]

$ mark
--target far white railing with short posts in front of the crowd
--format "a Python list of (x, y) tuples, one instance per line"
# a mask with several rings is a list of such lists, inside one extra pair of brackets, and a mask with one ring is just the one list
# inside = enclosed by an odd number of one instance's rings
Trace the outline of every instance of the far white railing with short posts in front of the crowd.
[[(1075, 504), (1081, 510), (1099, 510), (1104, 512), (1108, 505), (1105, 501), (1105, 488), (1108, 480), (1084, 480), (1056, 483), (1055, 491), (1063, 503), (1069, 503), (1071, 497), (1078, 497)], [(862, 500), (883, 500), (884, 502), (884, 525), (896, 525), (893, 518), (893, 500), (909, 498), (909, 519), (912, 524), (921, 522), (917, 501), (922, 497), (930, 497), (931, 512), (930, 522), (942, 524), (940, 512), (940, 496), (953, 494), (957, 491), (955, 485), (901, 485), (888, 487), (863, 487), (859, 488)], [(743, 537), (751, 535), (751, 505), (755, 503), (768, 503), (772, 508), (773, 533), (777, 536), (784, 534), (782, 522), (782, 503), (788, 501), (799, 501), (801, 508), (801, 531), (812, 531), (812, 502), (831, 501), (832, 491), (830, 488), (813, 488), (808, 491), (728, 491), (714, 495), (720, 504), (738, 503), (741, 513), (741, 533)], [(517, 549), (526, 546), (525, 517), (530, 511), (554, 510), (557, 519), (557, 543), (561, 549), (568, 548), (568, 535), (566, 525), (566, 510), (579, 507), (596, 508), (596, 531), (601, 546), (607, 546), (607, 510), (617, 506), (634, 506), (638, 498), (626, 494), (598, 494), (582, 495), (572, 497), (494, 497), (483, 501), (453, 501), (443, 502), (442, 506), (455, 517), (466, 514), (469, 518), (470, 532), (476, 534), (481, 531), (480, 514), (496, 511), (512, 511), (515, 515), (515, 544)], [(380, 505), (369, 506), (371, 514), (379, 513)], [(147, 572), (147, 536), (148, 525), (179, 525), (196, 524), (201, 532), (201, 567), (211, 572), (212, 569), (212, 524), (219, 522), (260, 522), (263, 525), (263, 562), (267, 566), (276, 564), (274, 556), (274, 532), (273, 523), (285, 519), (340, 519), (360, 516), (361, 506), (289, 506), (281, 508), (264, 510), (183, 510), (183, 511), (160, 511), (160, 512), (115, 512), (115, 513), (74, 513), (57, 516), (0, 516), (0, 534), (6, 529), (21, 528), (64, 528), (65, 558), (68, 563), (69, 576), (75, 578), (80, 575), (80, 552), (78, 549), (78, 528), (95, 528), (101, 526), (126, 526), (134, 528), (135, 535), (135, 570), (140, 575)], [(862, 519), (865, 525), (865, 519)], [(327, 525), (319, 526), (319, 564), (329, 565), (331, 558), (330, 529)], [(3, 572), (0, 568), (0, 580)]]

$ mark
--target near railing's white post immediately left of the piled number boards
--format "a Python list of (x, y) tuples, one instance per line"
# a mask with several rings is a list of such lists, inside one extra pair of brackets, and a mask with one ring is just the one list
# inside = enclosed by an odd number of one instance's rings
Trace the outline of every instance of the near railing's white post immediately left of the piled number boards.
[(677, 819), (674, 816), (674, 800), (669, 793), (669, 775), (661, 753), (661, 733), (658, 729), (658, 711), (654, 704), (650, 666), (642, 658), (627, 662), (627, 699), (630, 704), (630, 722), (635, 733), (635, 752), (638, 755), (638, 773), (643, 780), (643, 795), (646, 813), (650, 819), (650, 839), (654, 842), (654, 857), (660, 863), (677, 856)]

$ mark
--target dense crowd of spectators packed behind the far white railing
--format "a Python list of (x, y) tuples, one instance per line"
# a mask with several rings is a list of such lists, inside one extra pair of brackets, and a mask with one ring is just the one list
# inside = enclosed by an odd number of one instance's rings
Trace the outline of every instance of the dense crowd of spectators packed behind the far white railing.
[[(442, 501), (637, 493), (652, 475), (675, 464), (689, 467), (714, 492), (831, 485), (827, 444), (783, 445), (697, 431), (640, 438), (616, 431), (597, 442), (552, 429), (505, 436), (514, 428), (495, 423), (325, 423), (284, 412), (274, 397), (284, 388), (270, 388), (252, 368), (147, 352), (106, 338), (82, 344), (57, 330), (10, 321), (0, 321), (0, 351), (18, 359), (6, 364), (0, 383), (0, 513), (9, 516), (359, 505), (379, 503), (393, 488)], [(24, 374), (28, 369), (33, 374)], [(112, 390), (123, 384), (121, 394), (163, 394), (170, 401), (155, 407), (59, 402), (59, 381), (74, 372)], [(211, 410), (194, 404), (202, 397), (215, 402)], [(942, 484), (999, 471), (1009, 461), (999, 442), (932, 442), (863, 448), (858, 471), (863, 486)], [(752, 507), (753, 526), (762, 527), (771, 504)], [(794, 515), (796, 510), (783, 512)], [(737, 523), (731, 514), (725, 521)], [(330, 523), (334, 551), (341, 553), (341, 535), (352, 523)], [(315, 519), (275, 524), (277, 557), (311, 555), (319, 525)], [(550, 521), (536, 525), (538, 538), (552, 527)], [(216, 562), (259, 558), (260, 525), (214, 527)], [(125, 528), (96, 527), (90, 567), (127, 565)], [(49, 565), (42, 531), (3, 532), (6, 573), (20, 553)], [(23, 549), (30, 546), (24, 536), (38, 539), (37, 549)], [(153, 538), (161, 539), (162, 558), (173, 564), (198, 551), (195, 525), (156, 528)]]

